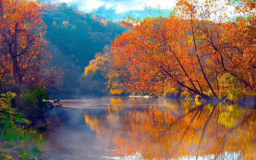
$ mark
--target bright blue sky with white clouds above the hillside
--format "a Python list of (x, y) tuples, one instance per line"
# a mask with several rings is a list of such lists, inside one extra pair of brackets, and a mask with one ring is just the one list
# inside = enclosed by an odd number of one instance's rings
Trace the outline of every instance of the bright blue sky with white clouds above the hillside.
[[(168, 15), (174, 6), (174, 0), (46, 0), (65, 2), (83, 12), (101, 14), (114, 21), (123, 20), (124, 16), (145, 18), (157, 16), (158, 11)], [(160, 7), (160, 9), (158, 9)]]

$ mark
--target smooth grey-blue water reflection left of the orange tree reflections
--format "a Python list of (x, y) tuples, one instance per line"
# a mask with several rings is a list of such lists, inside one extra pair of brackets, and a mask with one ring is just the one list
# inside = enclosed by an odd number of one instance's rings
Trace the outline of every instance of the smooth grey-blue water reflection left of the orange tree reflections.
[[(46, 156), (54, 160), (95, 160), (99, 155), (108, 155), (103, 136), (98, 136), (84, 124), (84, 109), (54, 108), (47, 121)], [(103, 110), (100, 110), (101, 112)], [(87, 109), (101, 115), (97, 109)], [(104, 112), (104, 111), (103, 111)], [(106, 149), (105, 149), (106, 148)]]

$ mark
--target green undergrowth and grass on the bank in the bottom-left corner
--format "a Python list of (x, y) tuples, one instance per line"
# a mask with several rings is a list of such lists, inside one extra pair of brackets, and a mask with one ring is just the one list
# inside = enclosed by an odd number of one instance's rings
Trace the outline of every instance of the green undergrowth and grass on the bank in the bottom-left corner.
[[(0, 159), (38, 159), (43, 146), (42, 135), (27, 128), (30, 121), (21, 112), (11, 107), (15, 93), (0, 95)], [(10, 155), (8, 155), (9, 153)]]

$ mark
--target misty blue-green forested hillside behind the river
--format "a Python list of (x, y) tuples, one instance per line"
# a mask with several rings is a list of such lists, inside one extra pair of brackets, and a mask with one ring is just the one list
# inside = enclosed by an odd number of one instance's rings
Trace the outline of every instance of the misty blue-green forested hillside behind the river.
[[(104, 78), (100, 75), (81, 77), (83, 68), (96, 52), (125, 30), (120, 24), (93, 13), (80, 12), (66, 3), (49, 3), (42, 15), (47, 25), (45, 34), (52, 64), (63, 71), (62, 95), (90, 94), (104, 89)], [(79, 81), (97, 83), (98, 88), (81, 88)], [(82, 82), (84, 84), (84, 82)], [(100, 85), (99, 85), (100, 83)]]

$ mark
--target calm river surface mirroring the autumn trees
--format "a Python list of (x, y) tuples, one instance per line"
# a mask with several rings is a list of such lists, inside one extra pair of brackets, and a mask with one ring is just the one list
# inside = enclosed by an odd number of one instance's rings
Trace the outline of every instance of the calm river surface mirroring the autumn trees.
[(256, 110), (196, 100), (62, 100), (35, 126), (49, 160), (256, 159)]

